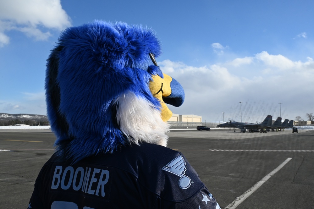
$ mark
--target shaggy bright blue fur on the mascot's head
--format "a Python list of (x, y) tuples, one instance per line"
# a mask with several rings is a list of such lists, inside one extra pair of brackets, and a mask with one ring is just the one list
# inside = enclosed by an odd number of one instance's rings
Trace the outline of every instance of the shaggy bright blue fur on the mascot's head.
[(127, 143), (116, 121), (126, 92), (160, 103), (148, 89), (163, 76), (149, 53), (161, 54), (154, 32), (140, 25), (95, 21), (63, 31), (47, 60), (46, 102), (60, 155), (77, 162)]

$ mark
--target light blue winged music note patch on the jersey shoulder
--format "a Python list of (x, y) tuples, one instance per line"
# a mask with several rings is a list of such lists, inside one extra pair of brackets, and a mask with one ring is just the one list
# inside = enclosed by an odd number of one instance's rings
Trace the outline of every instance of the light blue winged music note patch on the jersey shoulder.
[(181, 189), (187, 189), (191, 185), (190, 177), (185, 175), (186, 163), (183, 157), (180, 155), (169, 162), (165, 167), (162, 168), (164, 171), (168, 171), (180, 177), (179, 187)]

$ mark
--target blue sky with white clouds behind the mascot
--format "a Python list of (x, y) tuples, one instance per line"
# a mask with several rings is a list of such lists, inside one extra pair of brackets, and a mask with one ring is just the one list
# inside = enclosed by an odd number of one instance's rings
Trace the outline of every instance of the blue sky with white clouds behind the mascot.
[(0, 113), (46, 115), (45, 65), (60, 31), (99, 19), (156, 31), (157, 63), (185, 89), (174, 113), (240, 121), (242, 102), (242, 121), (276, 118), (280, 107), (282, 118), (306, 119), (314, 112), (313, 8), (310, 0), (0, 0)]

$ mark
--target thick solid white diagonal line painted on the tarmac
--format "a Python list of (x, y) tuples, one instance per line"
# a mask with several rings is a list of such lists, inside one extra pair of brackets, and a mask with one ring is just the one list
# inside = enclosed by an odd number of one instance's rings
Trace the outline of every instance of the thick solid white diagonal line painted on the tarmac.
[(232, 203), (230, 203), (225, 209), (234, 209), (241, 204), (246, 198), (248, 198), (253, 192), (255, 192), (258, 188), (260, 188), (270, 177), (272, 177), (275, 173), (277, 173), (285, 164), (287, 164), (292, 158), (289, 157), (283, 163), (281, 163), (275, 170), (268, 173), (262, 180), (257, 182), (254, 186), (252, 186), (249, 190), (243, 193), (240, 197), (235, 199)]

